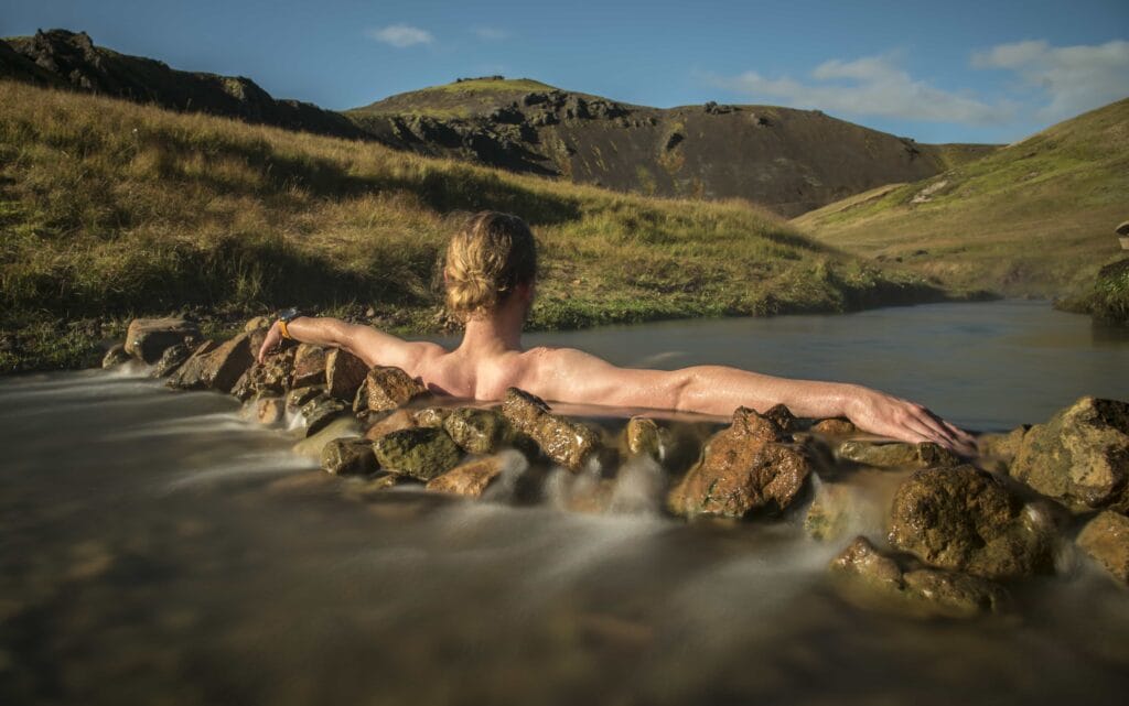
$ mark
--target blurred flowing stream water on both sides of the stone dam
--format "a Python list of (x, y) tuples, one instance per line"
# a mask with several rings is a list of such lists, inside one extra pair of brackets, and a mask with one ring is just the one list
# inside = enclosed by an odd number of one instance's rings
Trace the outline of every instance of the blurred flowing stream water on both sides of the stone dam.
[[(859, 381), (982, 430), (1129, 398), (1129, 335), (1036, 302), (530, 343)], [(1013, 586), (1016, 614), (917, 621), (834, 591), (850, 537), (808, 539), (802, 512), (665, 518), (653, 467), (621, 469), (639, 501), (622, 513), (560, 509), (563, 471), (534, 505), (505, 484), (367, 493), (230, 398), (100, 371), (0, 380), (0, 442), (5, 705), (1120, 704), (1129, 687), (1129, 592), (1069, 544), (1057, 576)], [(875, 510), (857, 531), (882, 538), (898, 479), (859, 475)]]

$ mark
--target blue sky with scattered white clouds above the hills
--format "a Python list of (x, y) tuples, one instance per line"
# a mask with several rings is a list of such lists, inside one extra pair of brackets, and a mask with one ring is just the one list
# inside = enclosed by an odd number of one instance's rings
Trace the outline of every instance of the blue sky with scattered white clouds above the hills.
[(1129, 0), (3, 0), (275, 97), (365, 105), (501, 73), (659, 107), (820, 108), (921, 142), (1009, 142), (1129, 96)]

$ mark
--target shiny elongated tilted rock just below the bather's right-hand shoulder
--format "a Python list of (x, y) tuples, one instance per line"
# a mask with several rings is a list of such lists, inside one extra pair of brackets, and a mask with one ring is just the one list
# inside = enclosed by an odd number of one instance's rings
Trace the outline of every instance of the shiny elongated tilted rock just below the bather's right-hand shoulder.
[(579, 470), (599, 448), (595, 430), (550, 414), (543, 399), (516, 387), (506, 390), (501, 409), (515, 431), (533, 439), (545, 456), (569, 470)]

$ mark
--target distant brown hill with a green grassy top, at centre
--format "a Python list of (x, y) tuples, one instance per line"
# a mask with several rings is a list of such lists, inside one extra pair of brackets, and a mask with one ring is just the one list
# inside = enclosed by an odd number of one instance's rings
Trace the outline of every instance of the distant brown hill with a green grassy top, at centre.
[(618, 103), (528, 79), (462, 79), (347, 115), (386, 144), (647, 195), (739, 197), (796, 215), (992, 145), (927, 145), (819, 111)]

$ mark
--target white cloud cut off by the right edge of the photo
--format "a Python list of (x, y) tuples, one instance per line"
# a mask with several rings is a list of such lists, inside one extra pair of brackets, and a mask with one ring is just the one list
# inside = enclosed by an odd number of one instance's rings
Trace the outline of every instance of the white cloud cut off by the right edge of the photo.
[(1044, 41), (1000, 44), (972, 54), (975, 69), (1014, 71), (1041, 94), (1043, 120), (1057, 121), (1129, 96), (1129, 42), (1051, 46)]

